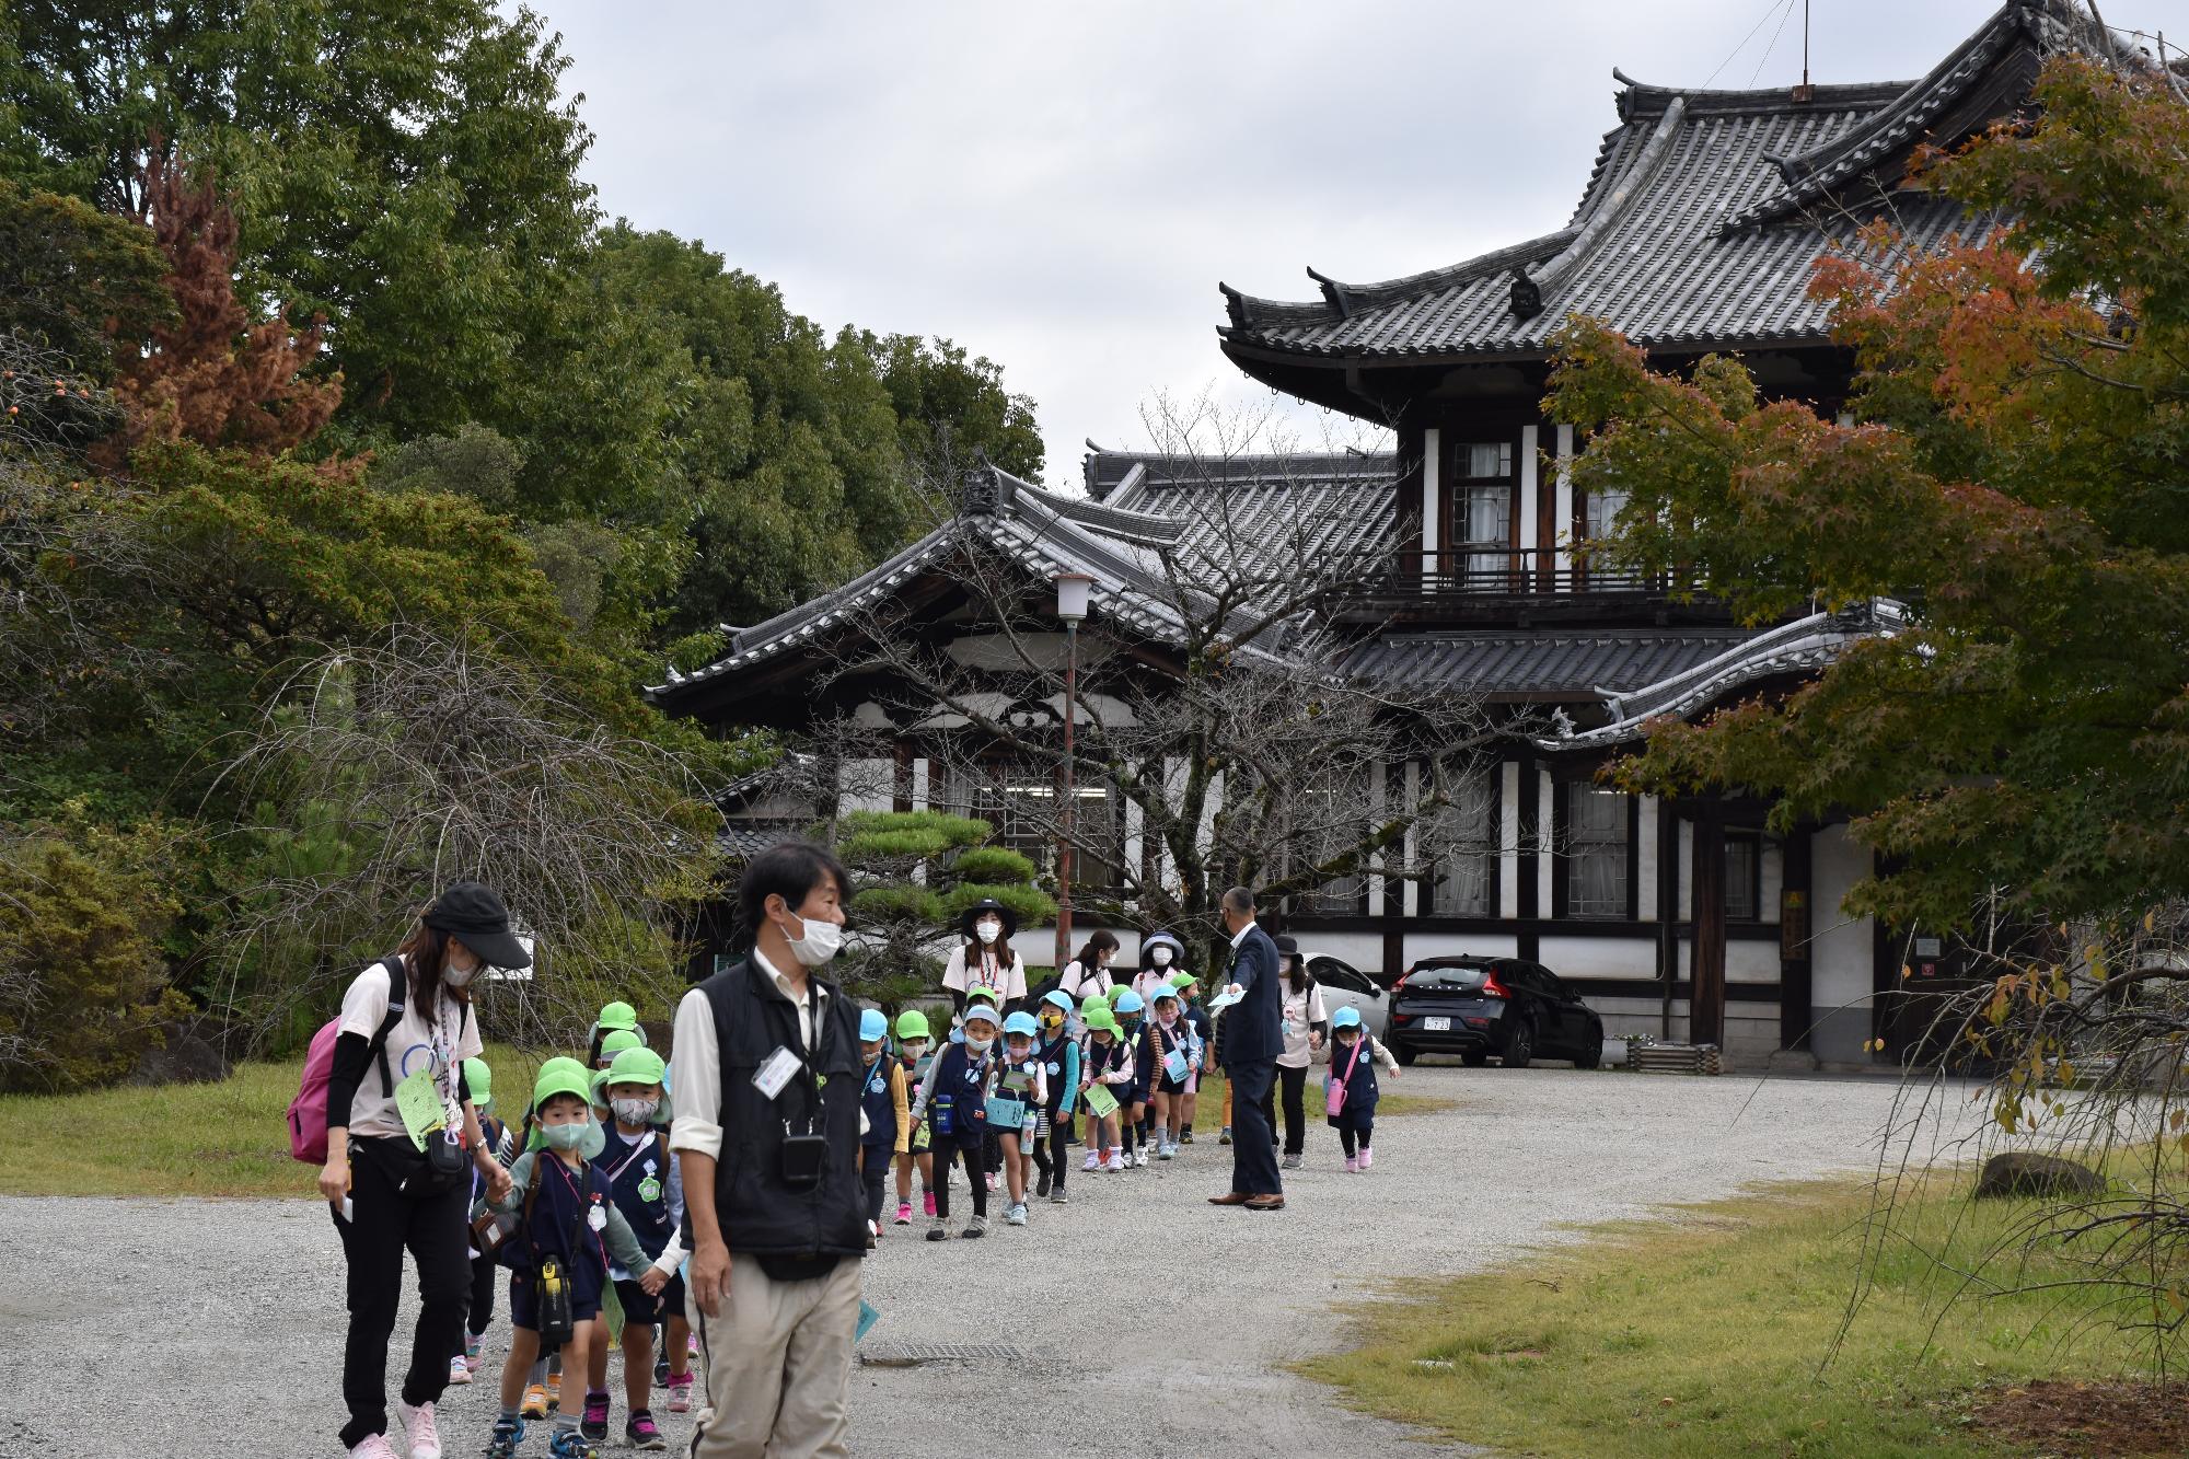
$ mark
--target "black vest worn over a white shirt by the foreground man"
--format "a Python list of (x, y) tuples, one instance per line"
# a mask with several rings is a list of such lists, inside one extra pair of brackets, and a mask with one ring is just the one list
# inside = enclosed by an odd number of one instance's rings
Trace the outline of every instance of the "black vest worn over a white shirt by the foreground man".
[[(858, 1014), (841, 988), (812, 979), (827, 997), (814, 1016), (814, 1080), (799, 1071), (777, 1098), (753, 1087), (753, 1071), (775, 1049), (797, 1054), (799, 1010), (751, 957), (698, 988), (714, 1008), (722, 1058), (722, 1154), (714, 1174), (714, 1207), (722, 1240), (736, 1255), (816, 1260), (865, 1255), (867, 1196), (858, 1183)], [(781, 1179), (784, 1122), (795, 1133), (827, 1137), (821, 1181), (790, 1190)], [(762, 1262), (768, 1268), (768, 1262)], [(775, 1275), (771, 1271), (768, 1275)]]

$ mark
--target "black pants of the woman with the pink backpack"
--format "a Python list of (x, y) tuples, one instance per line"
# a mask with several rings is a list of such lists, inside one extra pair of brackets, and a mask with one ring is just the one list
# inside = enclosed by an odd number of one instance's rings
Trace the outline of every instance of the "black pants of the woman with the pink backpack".
[(412, 1339), (403, 1402), (438, 1402), (449, 1387), (449, 1354), (464, 1343), (471, 1306), (471, 1181), (414, 1200), (396, 1190), (414, 1154), (407, 1139), (350, 1141), (350, 1220), (335, 1216), (350, 1266), (350, 1334), (341, 1347), (341, 1402), (350, 1422), (341, 1444), (387, 1433), (387, 1339), (396, 1330), (403, 1253), (418, 1264), (418, 1332)]

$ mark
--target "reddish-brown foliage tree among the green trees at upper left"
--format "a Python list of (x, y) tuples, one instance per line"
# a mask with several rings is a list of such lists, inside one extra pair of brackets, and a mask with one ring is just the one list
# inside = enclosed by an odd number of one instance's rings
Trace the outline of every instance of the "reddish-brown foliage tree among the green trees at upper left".
[(341, 403), (341, 372), (313, 379), (322, 315), (298, 331), (285, 311), (252, 322), (236, 300), (236, 215), (212, 177), (195, 184), (158, 142), (144, 164), (144, 210), (169, 259), (177, 320), (151, 331), (151, 348), (123, 344), (116, 394), (127, 423), (109, 460), (149, 440), (195, 440), (276, 456), (311, 440)]

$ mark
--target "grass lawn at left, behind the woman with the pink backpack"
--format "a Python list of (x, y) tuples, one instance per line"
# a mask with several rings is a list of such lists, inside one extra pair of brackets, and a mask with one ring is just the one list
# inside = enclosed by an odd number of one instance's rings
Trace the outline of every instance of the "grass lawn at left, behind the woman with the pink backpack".
[[(521, 1111), (538, 1058), (503, 1045), (486, 1058)], [(311, 1196), (315, 1170), (289, 1159), (302, 1073), (298, 1056), (219, 1084), (0, 1095), (0, 1196)]]

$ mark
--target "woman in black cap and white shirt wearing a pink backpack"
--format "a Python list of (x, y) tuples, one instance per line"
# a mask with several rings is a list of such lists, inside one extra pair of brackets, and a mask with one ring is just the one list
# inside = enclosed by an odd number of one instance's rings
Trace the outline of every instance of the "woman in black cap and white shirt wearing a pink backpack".
[[(471, 981), (486, 968), (528, 968), (493, 889), (460, 881), (418, 914), (392, 957), (341, 995), (326, 1084), (326, 1168), (320, 1194), (350, 1268), (350, 1334), (341, 1352), (341, 1441), (366, 1459), (440, 1459), (433, 1404), (449, 1354), (464, 1341), (471, 1299), (471, 1172), (501, 1198), (510, 1179), (479, 1135), (464, 1060), (484, 1045)], [(409, 1084), (407, 1095), (398, 1091)], [(418, 1334), (403, 1378), (405, 1448), (387, 1441), (387, 1336), (403, 1293), (403, 1251), (418, 1262)]]

